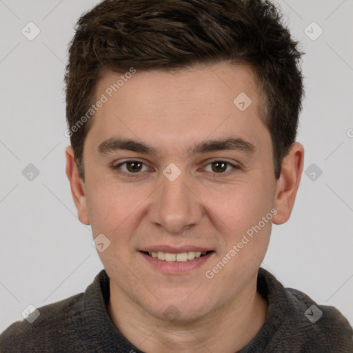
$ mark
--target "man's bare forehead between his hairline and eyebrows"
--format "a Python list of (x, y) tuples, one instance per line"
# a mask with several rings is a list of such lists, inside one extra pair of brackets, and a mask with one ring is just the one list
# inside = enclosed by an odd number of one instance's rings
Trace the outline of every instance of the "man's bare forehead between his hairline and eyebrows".
[[(218, 63), (185, 70), (103, 72), (95, 101), (105, 101), (90, 130), (98, 139), (129, 136), (185, 145), (212, 137), (263, 134), (261, 92), (252, 69)], [(189, 146), (185, 145), (185, 148)]]

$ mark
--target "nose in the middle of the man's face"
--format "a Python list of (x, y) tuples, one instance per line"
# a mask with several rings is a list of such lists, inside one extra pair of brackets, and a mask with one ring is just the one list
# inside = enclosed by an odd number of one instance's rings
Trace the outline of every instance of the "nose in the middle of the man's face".
[(185, 173), (170, 181), (161, 176), (161, 187), (154, 194), (150, 208), (150, 220), (169, 233), (181, 234), (201, 221), (203, 206), (188, 183)]

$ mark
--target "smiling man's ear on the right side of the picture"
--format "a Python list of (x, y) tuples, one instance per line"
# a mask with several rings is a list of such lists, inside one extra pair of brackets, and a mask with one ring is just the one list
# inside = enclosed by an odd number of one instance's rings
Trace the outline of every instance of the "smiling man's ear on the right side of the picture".
[(303, 172), (304, 148), (301, 143), (293, 143), (290, 152), (283, 159), (281, 176), (277, 181), (274, 208), (277, 213), (273, 217), (274, 224), (288, 221), (292, 213), (296, 192)]

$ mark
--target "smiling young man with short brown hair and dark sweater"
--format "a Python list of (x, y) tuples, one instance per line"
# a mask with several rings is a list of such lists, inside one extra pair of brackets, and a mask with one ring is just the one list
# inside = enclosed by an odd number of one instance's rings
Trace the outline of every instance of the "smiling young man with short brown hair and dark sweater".
[(301, 52), (260, 0), (106, 0), (70, 46), (66, 173), (105, 270), (1, 352), (353, 352), (260, 268), (290, 217)]

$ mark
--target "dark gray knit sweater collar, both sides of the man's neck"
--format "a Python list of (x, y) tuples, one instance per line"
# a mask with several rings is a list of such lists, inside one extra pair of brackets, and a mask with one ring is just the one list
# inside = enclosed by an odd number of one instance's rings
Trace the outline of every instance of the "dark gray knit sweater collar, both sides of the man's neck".
[[(136, 352), (143, 353), (134, 347), (119, 332), (108, 312), (110, 299), (110, 279), (105, 270), (101, 270), (88, 286), (83, 296), (83, 319), (88, 335), (96, 352)], [(259, 352), (268, 344), (276, 330), (279, 329), (288, 310), (288, 301), (283, 285), (270, 274), (259, 269), (257, 290), (268, 302), (265, 323), (259, 333), (239, 353)]]

